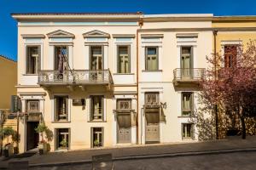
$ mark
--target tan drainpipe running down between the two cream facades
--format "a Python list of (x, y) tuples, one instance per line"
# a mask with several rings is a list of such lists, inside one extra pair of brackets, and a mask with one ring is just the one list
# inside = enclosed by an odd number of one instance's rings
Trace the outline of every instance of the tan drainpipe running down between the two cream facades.
[[(139, 26), (140, 26), (140, 28), (139, 29), (141, 29), (142, 28), (142, 26), (143, 26), (143, 19), (140, 19), (139, 21), (138, 21), (138, 24), (139, 24)], [(138, 46), (139, 46), (139, 44), (138, 44), (138, 31), (139, 31), (139, 29), (137, 29), (137, 32), (136, 32), (136, 72), (137, 72), (137, 122), (136, 122), (136, 125), (137, 125), (137, 144), (139, 144), (139, 141), (138, 141), (138, 139), (139, 139), (139, 135), (138, 135), (138, 132), (139, 132), (139, 130), (138, 130), (138, 113), (139, 113), (139, 93), (138, 93), (138, 79), (139, 79), (139, 77), (138, 77), (138, 62), (139, 62), (139, 53), (138, 53)], [(141, 141), (141, 144), (142, 144), (142, 141)]]

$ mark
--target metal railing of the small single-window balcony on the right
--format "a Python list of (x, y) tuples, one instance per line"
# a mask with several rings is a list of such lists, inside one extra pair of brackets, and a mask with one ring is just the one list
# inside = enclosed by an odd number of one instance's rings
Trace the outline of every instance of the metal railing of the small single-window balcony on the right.
[(204, 79), (206, 70), (196, 69), (175, 69), (173, 71), (174, 81), (200, 81)]

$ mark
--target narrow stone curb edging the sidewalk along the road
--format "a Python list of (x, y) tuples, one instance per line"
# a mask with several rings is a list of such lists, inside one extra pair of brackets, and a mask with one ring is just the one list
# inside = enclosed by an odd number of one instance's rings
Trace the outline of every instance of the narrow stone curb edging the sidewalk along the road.
[[(203, 156), (203, 155), (218, 155), (225, 153), (236, 152), (253, 152), (256, 151), (256, 147), (247, 149), (228, 149), (228, 150), (203, 150), (203, 151), (189, 151), (189, 152), (176, 152), (166, 154), (154, 154), (154, 155), (138, 155), (138, 156), (120, 156), (113, 158), (113, 161), (125, 161), (125, 160), (139, 160), (139, 159), (152, 159), (152, 158), (164, 158), (164, 157), (177, 157), (177, 156)], [(30, 164), (29, 167), (58, 167), (75, 164), (89, 164), (91, 160), (83, 161), (66, 161), (66, 162), (53, 162), (53, 163), (37, 163)]]

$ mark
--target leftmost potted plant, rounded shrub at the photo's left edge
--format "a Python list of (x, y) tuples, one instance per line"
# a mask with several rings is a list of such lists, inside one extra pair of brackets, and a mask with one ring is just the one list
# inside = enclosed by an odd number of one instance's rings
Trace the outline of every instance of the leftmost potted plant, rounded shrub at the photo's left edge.
[(4, 144), (3, 146), (3, 155), (5, 157), (9, 157), (14, 154), (14, 144), (9, 143), (9, 136), (13, 136), (15, 130), (13, 129), (13, 127), (3, 127), (2, 131), (3, 138), (7, 139), (7, 144)]

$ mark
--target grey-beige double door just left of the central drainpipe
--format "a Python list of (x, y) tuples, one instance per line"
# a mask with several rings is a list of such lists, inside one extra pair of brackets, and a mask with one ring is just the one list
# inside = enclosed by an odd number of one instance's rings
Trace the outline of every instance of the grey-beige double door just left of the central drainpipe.
[(117, 122), (118, 143), (131, 143), (131, 114), (118, 114)]

